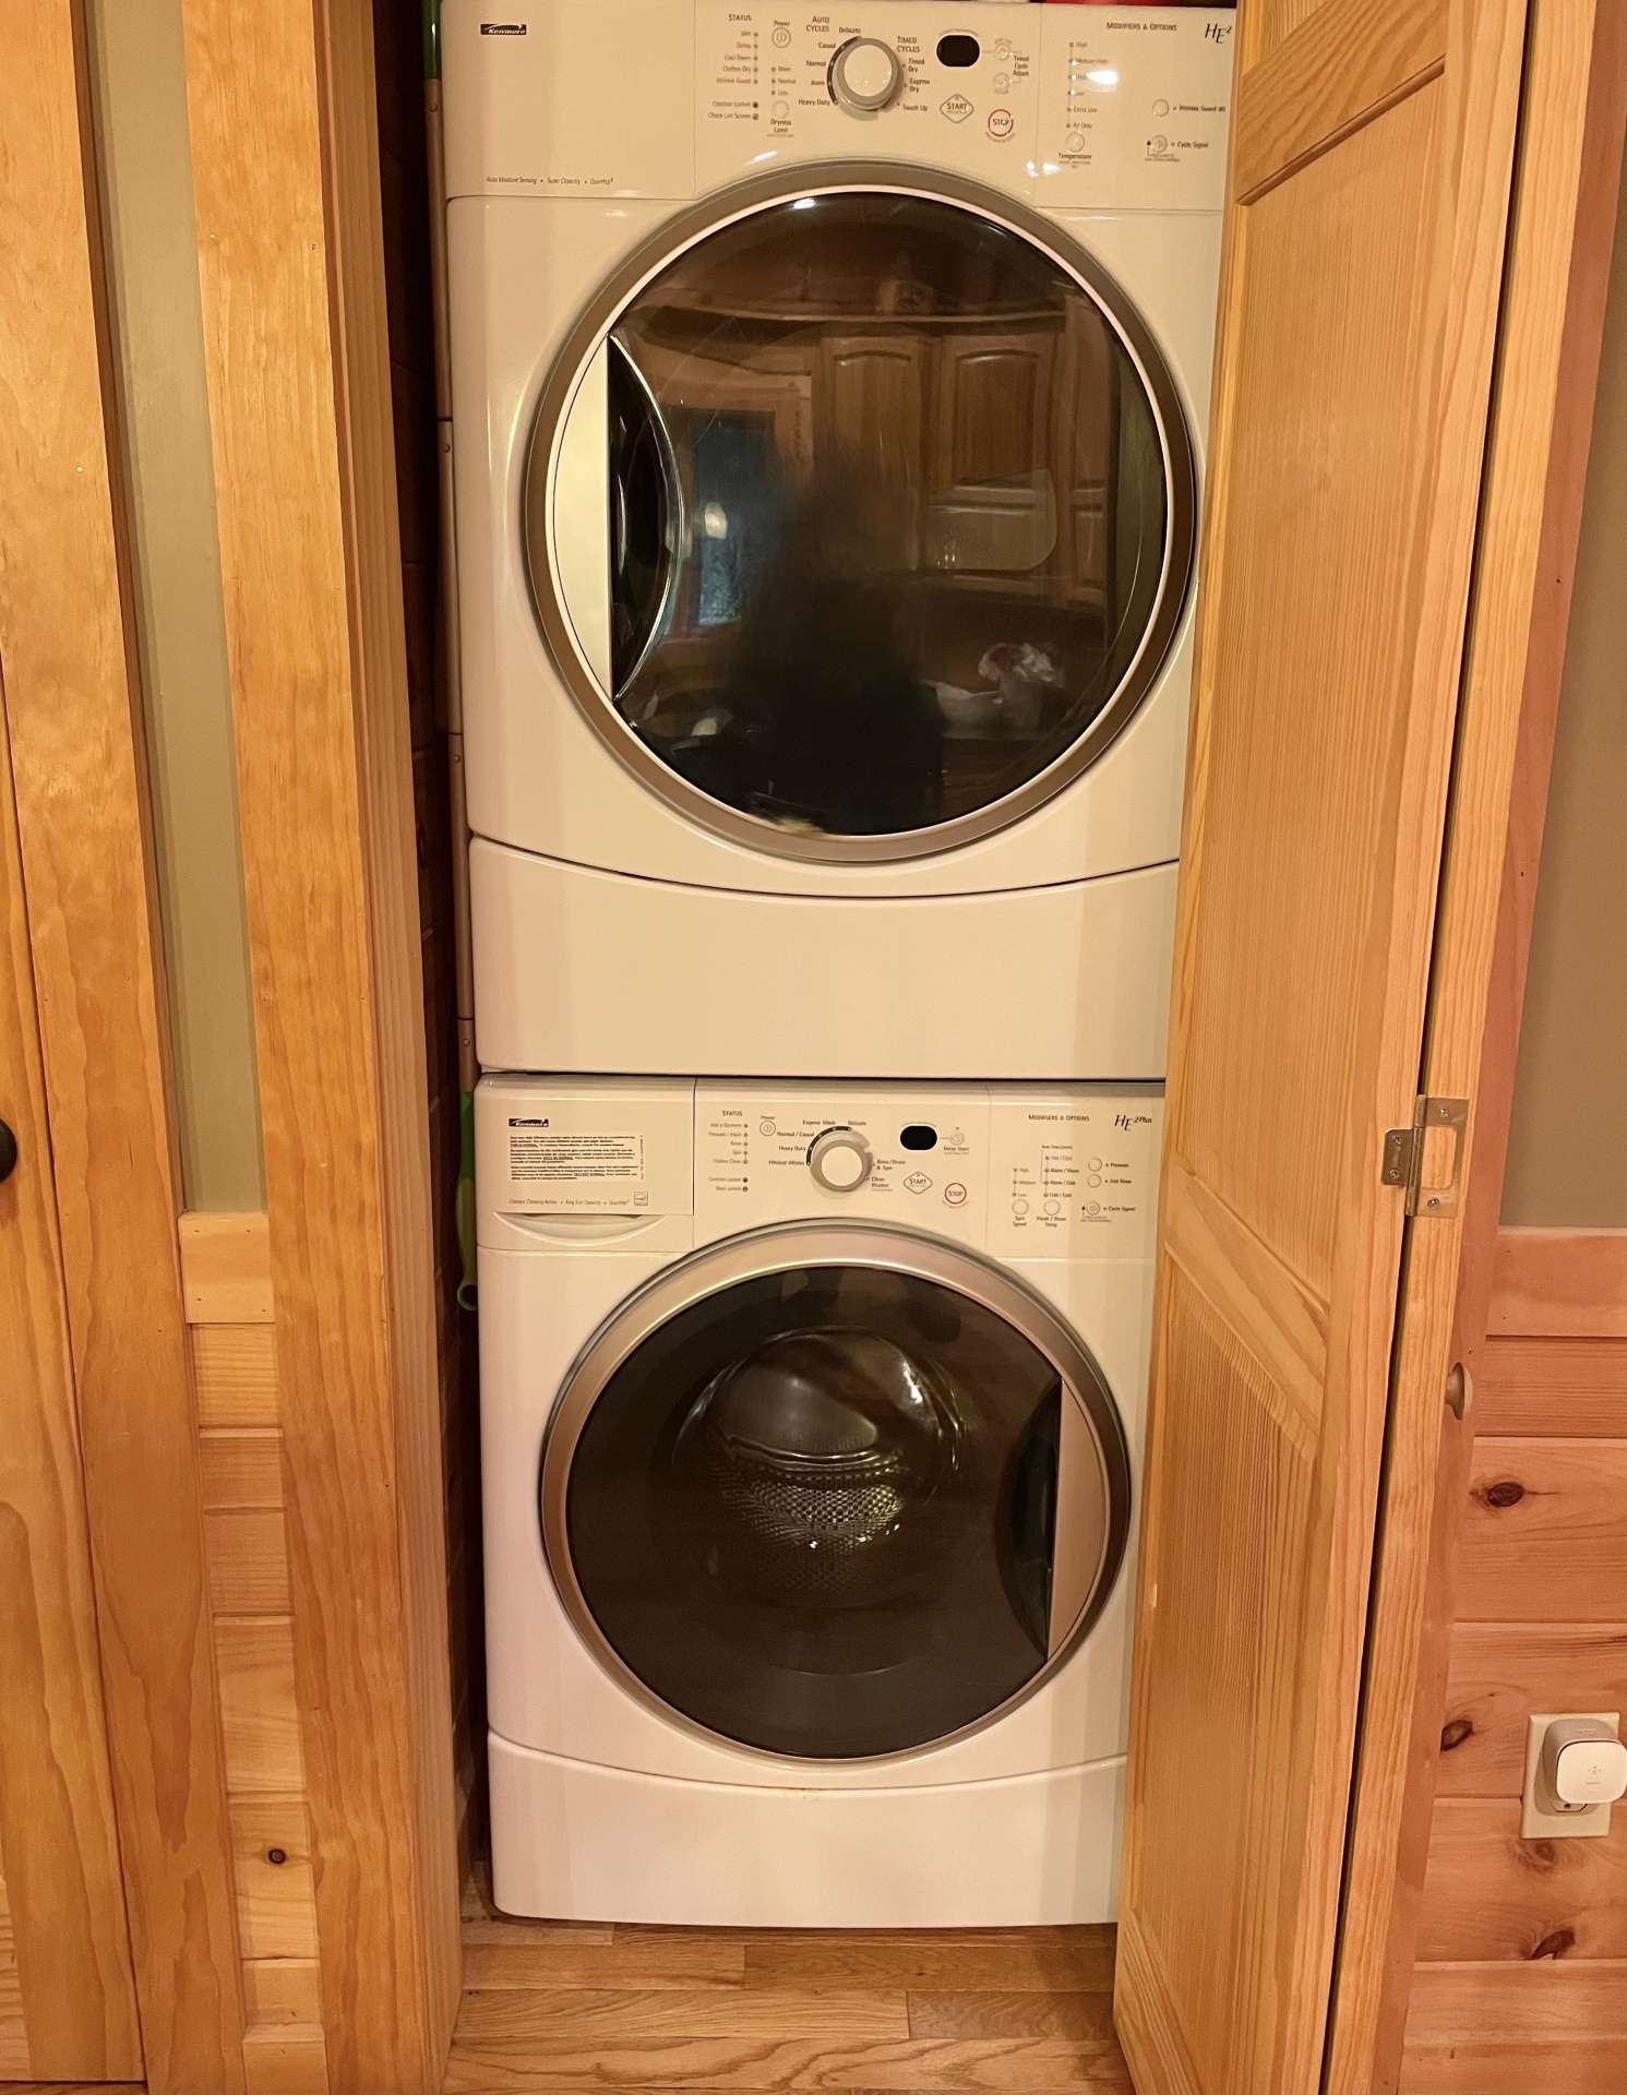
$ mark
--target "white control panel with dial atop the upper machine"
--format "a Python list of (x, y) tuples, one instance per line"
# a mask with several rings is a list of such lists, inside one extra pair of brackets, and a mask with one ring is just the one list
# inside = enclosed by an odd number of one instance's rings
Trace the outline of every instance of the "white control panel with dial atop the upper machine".
[(913, 161), (1047, 210), (1219, 212), (1235, 13), (444, 0), (448, 197), (687, 199)]

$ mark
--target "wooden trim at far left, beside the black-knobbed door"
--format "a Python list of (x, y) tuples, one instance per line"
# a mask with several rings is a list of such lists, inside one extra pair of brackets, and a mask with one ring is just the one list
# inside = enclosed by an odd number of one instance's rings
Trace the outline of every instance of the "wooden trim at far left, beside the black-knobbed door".
[(0, 649), (109, 1760), (149, 2082), (232, 2095), (243, 1997), (82, 8), (31, 8), (25, 44), (0, 73), (0, 243), (25, 287), (4, 333)]

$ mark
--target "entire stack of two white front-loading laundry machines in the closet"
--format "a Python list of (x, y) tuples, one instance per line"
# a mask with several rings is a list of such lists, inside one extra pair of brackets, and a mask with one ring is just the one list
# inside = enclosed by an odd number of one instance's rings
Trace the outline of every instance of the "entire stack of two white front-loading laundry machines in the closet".
[(507, 1911), (1114, 1911), (1231, 21), (446, 0)]

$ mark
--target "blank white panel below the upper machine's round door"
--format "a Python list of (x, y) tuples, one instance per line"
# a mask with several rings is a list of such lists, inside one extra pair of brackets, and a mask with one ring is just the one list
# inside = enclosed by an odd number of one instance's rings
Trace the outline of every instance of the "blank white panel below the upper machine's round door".
[(1173, 865), (844, 909), (626, 880), (484, 838), (469, 874), (486, 1068), (1164, 1075)]

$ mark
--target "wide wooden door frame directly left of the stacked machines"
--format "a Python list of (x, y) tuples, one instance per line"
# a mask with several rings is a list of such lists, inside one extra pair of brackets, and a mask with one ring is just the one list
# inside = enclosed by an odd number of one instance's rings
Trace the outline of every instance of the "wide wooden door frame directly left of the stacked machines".
[(436, 2095), (459, 1812), (373, 15), (182, 0), (182, 31), (322, 2085)]

